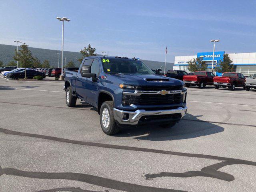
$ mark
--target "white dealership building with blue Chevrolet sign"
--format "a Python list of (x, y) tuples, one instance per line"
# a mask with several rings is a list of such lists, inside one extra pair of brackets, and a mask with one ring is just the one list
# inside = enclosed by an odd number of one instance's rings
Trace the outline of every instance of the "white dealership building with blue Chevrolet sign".
[[(216, 63), (223, 60), (225, 52), (214, 52), (214, 69)], [(256, 73), (256, 52), (254, 53), (228, 53), (230, 59), (233, 60), (233, 72), (239, 72), (244, 75), (252, 75)], [(194, 58), (201, 57), (208, 64), (207, 71), (212, 70), (212, 57), (213, 52), (200, 52), (192, 56), (176, 56), (174, 61), (173, 70), (188, 71), (188, 62)], [(217, 73), (218, 74), (218, 73)]]

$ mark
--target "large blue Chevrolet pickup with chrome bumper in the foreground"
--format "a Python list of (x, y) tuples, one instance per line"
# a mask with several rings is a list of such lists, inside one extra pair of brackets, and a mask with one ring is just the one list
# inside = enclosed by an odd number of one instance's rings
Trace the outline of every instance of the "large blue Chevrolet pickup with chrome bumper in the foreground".
[(122, 126), (172, 127), (186, 115), (181, 80), (155, 75), (143, 62), (127, 57), (86, 57), (78, 70), (66, 70), (66, 104), (79, 98), (98, 109), (105, 134)]

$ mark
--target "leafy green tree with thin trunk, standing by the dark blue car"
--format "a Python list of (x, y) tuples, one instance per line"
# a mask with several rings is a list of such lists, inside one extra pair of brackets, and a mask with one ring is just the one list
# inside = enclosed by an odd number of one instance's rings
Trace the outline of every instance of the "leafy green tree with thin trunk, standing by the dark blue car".
[(19, 61), (20, 67), (25, 68), (25, 78), (27, 78), (26, 68), (30, 68), (33, 63), (33, 56), (25, 43), (20, 46), (19, 52), (15, 50), (14, 60)]

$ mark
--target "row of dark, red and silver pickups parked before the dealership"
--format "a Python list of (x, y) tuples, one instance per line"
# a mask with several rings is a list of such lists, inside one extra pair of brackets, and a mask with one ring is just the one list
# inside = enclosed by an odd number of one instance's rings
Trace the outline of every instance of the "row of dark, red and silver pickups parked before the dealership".
[(230, 90), (236, 87), (243, 87), (245, 90), (256, 88), (256, 74), (246, 77), (241, 73), (225, 72), (222, 77), (218, 77), (208, 71), (196, 71), (190, 75), (182, 70), (169, 70), (165, 76), (183, 80), (186, 87), (198, 86), (201, 89), (207, 85), (214, 85), (216, 89), (228, 87)]

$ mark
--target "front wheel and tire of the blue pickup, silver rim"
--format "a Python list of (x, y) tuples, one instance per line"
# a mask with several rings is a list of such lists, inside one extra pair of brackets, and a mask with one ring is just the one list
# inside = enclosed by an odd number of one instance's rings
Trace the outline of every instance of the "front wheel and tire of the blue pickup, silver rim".
[(114, 119), (113, 109), (113, 101), (105, 101), (100, 107), (100, 126), (107, 135), (116, 134), (120, 130)]

